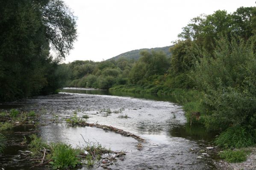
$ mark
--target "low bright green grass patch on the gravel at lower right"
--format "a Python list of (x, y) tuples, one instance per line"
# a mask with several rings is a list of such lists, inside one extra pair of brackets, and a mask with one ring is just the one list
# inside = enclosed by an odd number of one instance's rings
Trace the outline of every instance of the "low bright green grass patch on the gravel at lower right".
[(238, 163), (246, 161), (248, 154), (249, 151), (245, 150), (224, 150), (218, 155), (221, 157), (221, 159), (225, 159), (230, 163)]

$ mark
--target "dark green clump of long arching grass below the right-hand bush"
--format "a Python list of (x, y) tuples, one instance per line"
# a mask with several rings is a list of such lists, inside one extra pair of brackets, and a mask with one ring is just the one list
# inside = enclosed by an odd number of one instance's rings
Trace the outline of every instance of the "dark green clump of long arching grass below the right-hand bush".
[(215, 139), (215, 144), (225, 148), (248, 147), (255, 143), (256, 139), (251, 135), (250, 131), (240, 126), (229, 127)]

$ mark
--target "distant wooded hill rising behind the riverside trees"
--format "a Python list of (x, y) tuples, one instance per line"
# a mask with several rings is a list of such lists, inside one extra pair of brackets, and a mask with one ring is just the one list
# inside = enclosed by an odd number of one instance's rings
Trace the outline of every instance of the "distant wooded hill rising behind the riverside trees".
[(115, 56), (115, 57), (112, 57), (110, 59), (107, 59), (107, 60), (117, 60), (119, 59), (120, 57), (125, 57), (127, 59), (135, 59), (135, 60), (138, 60), (140, 56), (140, 52), (141, 51), (163, 51), (168, 57), (171, 56), (171, 53), (169, 51), (171, 46), (166, 46), (166, 47), (158, 47), (158, 48), (142, 48), (142, 49), (139, 49), (139, 50), (132, 50), (132, 51), (128, 51), (128, 52), (125, 52), (125, 53), (122, 53), (122, 54), (119, 54), (118, 56)]

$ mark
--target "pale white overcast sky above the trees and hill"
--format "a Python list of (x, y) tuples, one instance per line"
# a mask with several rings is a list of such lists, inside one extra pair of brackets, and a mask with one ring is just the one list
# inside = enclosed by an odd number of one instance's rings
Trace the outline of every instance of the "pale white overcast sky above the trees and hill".
[(78, 17), (78, 38), (66, 63), (103, 61), (135, 49), (169, 46), (193, 17), (256, 6), (255, 0), (64, 1)]

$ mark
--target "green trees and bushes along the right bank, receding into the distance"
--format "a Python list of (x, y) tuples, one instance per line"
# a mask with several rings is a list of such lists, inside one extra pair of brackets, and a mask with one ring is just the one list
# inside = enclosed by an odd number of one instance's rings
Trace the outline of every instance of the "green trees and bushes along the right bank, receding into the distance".
[(177, 96), (191, 122), (222, 132), (216, 144), (255, 144), (256, 7), (195, 17), (170, 50), (171, 59), (144, 51), (138, 61), (75, 61), (62, 69), (68, 86)]

